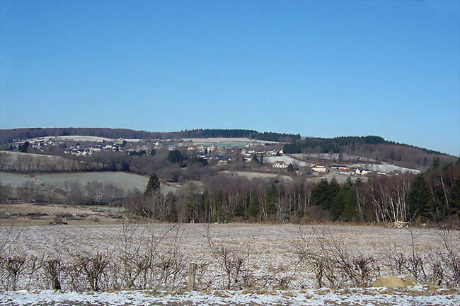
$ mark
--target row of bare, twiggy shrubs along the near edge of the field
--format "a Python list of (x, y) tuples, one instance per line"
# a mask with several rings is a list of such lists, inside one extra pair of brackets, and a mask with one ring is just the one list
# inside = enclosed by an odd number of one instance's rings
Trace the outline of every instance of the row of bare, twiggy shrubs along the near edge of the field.
[[(19, 252), (14, 243), (17, 233), (1, 233), (0, 288), (50, 288), (54, 290), (182, 290), (189, 268), (189, 258), (180, 249), (178, 225), (140, 229), (135, 224), (122, 227), (122, 243), (113, 248), (75, 249), (62, 242), (54, 252), (41, 257)], [(195, 289), (209, 288), (289, 288), (306, 268), (316, 286), (329, 288), (370, 286), (384, 269), (395, 275), (409, 275), (419, 283), (435, 286), (460, 286), (459, 246), (454, 244), (458, 232), (439, 230), (439, 245), (422, 256), (410, 230), (410, 254), (397, 247), (387, 250), (383, 258), (363, 254), (347, 247), (326, 228), (311, 228), (299, 239), (289, 242), (292, 256), (285, 266), (275, 266), (260, 274), (256, 271), (260, 254), (255, 252), (258, 234), (246, 242), (211, 234), (205, 237), (211, 257), (196, 264)], [(5, 229), (3, 229), (5, 231)], [(140, 230), (140, 235), (139, 235)], [(219, 267), (212, 273), (210, 266)]]

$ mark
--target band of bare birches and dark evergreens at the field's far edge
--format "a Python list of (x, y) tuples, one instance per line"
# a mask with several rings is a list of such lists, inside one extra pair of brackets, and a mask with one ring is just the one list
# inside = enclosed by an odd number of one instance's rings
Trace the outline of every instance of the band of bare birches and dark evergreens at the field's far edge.
[(209, 177), (204, 189), (188, 184), (178, 194), (138, 194), (132, 213), (186, 223), (239, 220), (284, 222), (433, 222), (458, 220), (460, 165), (421, 175), (376, 177), (370, 182), (282, 182)]

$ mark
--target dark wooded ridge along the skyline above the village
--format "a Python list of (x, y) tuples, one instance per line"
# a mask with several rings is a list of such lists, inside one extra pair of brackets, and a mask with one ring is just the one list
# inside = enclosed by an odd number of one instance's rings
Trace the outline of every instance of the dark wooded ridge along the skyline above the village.
[[(334, 163), (389, 163), (425, 170), (433, 163), (447, 165), (457, 157), (427, 148), (396, 143), (380, 136), (307, 137), (299, 134), (259, 132), (251, 129), (193, 129), (171, 132), (135, 131), (108, 128), (24, 128), (0, 130), (0, 145), (38, 137), (67, 136), (67, 140), (110, 141), (115, 139), (236, 139), (282, 142), (284, 154), (303, 155), (305, 160), (330, 160)], [(193, 141), (194, 143), (196, 141)], [(282, 144), (280, 143), (280, 144)]]

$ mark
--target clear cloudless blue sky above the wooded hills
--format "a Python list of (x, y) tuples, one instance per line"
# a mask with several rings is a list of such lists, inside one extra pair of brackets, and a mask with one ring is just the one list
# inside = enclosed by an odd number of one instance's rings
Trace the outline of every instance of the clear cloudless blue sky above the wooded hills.
[(0, 129), (379, 135), (460, 154), (460, 1), (0, 1)]

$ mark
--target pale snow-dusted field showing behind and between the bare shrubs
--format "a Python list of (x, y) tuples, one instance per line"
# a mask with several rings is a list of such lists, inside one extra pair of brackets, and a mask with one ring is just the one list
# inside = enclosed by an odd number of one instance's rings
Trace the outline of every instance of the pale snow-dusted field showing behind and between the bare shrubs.
[[(154, 224), (152, 235), (159, 235), (171, 225)], [(212, 282), (212, 288), (224, 288), (224, 278), (220, 278), (222, 270), (214, 261), (212, 252), (206, 238), (206, 227), (203, 224), (183, 224), (171, 231), (163, 245), (178, 242), (180, 253), (184, 260), (197, 264), (207, 263), (206, 279)], [(122, 247), (122, 225), (48, 225), (28, 226), (15, 228), (18, 231), (18, 240), (15, 242), (21, 252), (34, 254), (50, 254), (53, 250), (62, 249), (59, 245), (65, 241), (74, 249), (111, 249), (117, 252)], [(141, 225), (133, 234), (134, 239), (142, 241), (146, 235), (146, 225)], [(370, 254), (381, 262), (388, 257), (393, 248), (400, 249), (406, 254), (411, 252), (410, 237), (416, 236), (416, 249), (422, 256), (428, 257), (432, 249), (439, 248), (437, 230), (428, 229), (396, 229), (379, 226), (350, 226), (350, 225), (269, 225), (269, 224), (217, 224), (209, 229), (210, 236), (217, 245), (234, 247), (242, 254), (249, 254), (250, 260), (247, 267), (255, 276), (275, 276), (291, 278), (288, 288), (299, 290), (301, 288), (315, 288), (314, 276), (311, 271), (298, 264), (298, 257), (294, 244), (299, 242), (299, 231), (306, 237), (311, 233), (323, 231), (335, 240), (343, 242), (352, 252)], [(0, 227), (0, 236), (7, 233)], [(460, 235), (454, 236), (455, 245), (460, 243)], [(309, 249), (318, 247), (317, 240), (311, 240)], [(382, 267), (381, 275), (388, 275)], [(275, 278), (268, 287), (275, 288)], [(185, 279), (183, 280), (185, 282)], [(185, 283), (184, 283), (185, 284)], [(32, 287), (33, 288), (33, 287)]]

